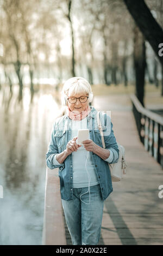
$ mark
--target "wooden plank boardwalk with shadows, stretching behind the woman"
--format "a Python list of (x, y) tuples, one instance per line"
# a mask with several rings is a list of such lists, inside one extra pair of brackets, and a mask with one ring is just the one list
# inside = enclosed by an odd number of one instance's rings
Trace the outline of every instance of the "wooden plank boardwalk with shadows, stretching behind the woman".
[[(99, 245), (163, 245), (163, 170), (139, 140), (128, 96), (96, 97), (97, 110), (111, 110), (117, 141), (126, 148), (127, 175), (105, 200)], [(72, 245), (66, 228), (67, 245)]]

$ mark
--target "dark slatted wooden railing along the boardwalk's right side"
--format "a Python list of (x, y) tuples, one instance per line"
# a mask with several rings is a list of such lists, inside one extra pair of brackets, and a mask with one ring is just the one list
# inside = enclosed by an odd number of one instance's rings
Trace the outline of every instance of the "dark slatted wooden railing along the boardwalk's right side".
[(130, 94), (140, 140), (163, 168), (163, 118), (143, 108), (135, 94)]

